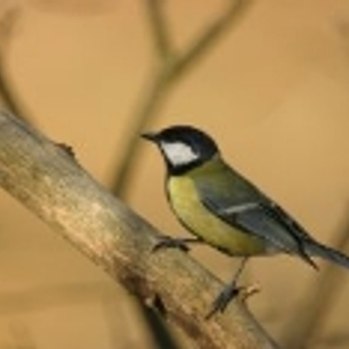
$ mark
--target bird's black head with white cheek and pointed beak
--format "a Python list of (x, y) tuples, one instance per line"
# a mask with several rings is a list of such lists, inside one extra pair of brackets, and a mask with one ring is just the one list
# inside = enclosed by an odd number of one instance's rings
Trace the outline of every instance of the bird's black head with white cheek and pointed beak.
[(171, 126), (158, 133), (144, 133), (142, 137), (159, 147), (170, 174), (191, 170), (219, 152), (216, 142), (193, 126)]

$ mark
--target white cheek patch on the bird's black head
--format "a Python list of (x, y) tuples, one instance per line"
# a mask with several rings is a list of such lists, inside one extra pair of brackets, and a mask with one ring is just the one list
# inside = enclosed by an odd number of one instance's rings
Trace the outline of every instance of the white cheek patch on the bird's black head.
[(170, 163), (174, 166), (187, 165), (199, 158), (199, 155), (191, 147), (182, 142), (161, 142), (161, 148)]

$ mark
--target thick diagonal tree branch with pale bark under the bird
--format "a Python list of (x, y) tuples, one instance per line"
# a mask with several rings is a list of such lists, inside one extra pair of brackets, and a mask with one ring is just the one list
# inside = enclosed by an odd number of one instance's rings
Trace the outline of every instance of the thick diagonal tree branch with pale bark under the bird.
[(276, 348), (241, 300), (205, 320), (221, 283), (181, 251), (151, 253), (157, 232), (149, 223), (96, 183), (68, 147), (1, 111), (0, 186), (143, 302), (163, 309), (198, 348)]

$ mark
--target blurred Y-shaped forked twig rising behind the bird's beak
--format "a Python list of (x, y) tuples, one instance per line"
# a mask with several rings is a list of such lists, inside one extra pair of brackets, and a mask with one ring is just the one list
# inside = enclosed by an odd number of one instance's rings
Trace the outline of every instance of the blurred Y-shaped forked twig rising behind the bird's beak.
[[(207, 29), (193, 41), (193, 44), (181, 54), (175, 54), (172, 50), (172, 43), (168, 35), (167, 24), (163, 14), (163, 4), (160, 0), (148, 0), (148, 15), (151, 22), (152, 33), (158, 51), (161, 52), (161, 61), (158, 62), (155, 71), (151, 71), (151, 79), (146, 84), (142, 94), (142, 101), (136, 106), (135, 112), (131, 114), (130, 131), (124, 137), (124, 151), (120, 160), (118, 151), (118, 169), (113, 175), (112, 192), (120, 198), (125, 197), (128, 185), (131, 182), (135, 159), (138, 154), (139, 135), (144, 128), (154, 121), (165, 98), (169, 96), (175, 82), (179, 82), (189, 68), (198, 63), (209, 48), (221, 37), (232, 22), (242, 14), (248, 0), (230, 0), (228, 9), (209, 24)], [(150, 91), (150, 92), (149, 92)]]

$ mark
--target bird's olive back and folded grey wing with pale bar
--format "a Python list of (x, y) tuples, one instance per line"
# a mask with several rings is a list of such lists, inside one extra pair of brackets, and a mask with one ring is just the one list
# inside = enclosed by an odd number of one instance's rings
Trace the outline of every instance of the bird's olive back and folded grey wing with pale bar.
[(197, 181), (207, 209), (226, 223), (264, 239), (276, 250), (299, 255), (315, 267), (306, 253), (306, 244), (312, 239), (299, 223), (232, 169), (225, 168), (217, 176), (221, 178)]

